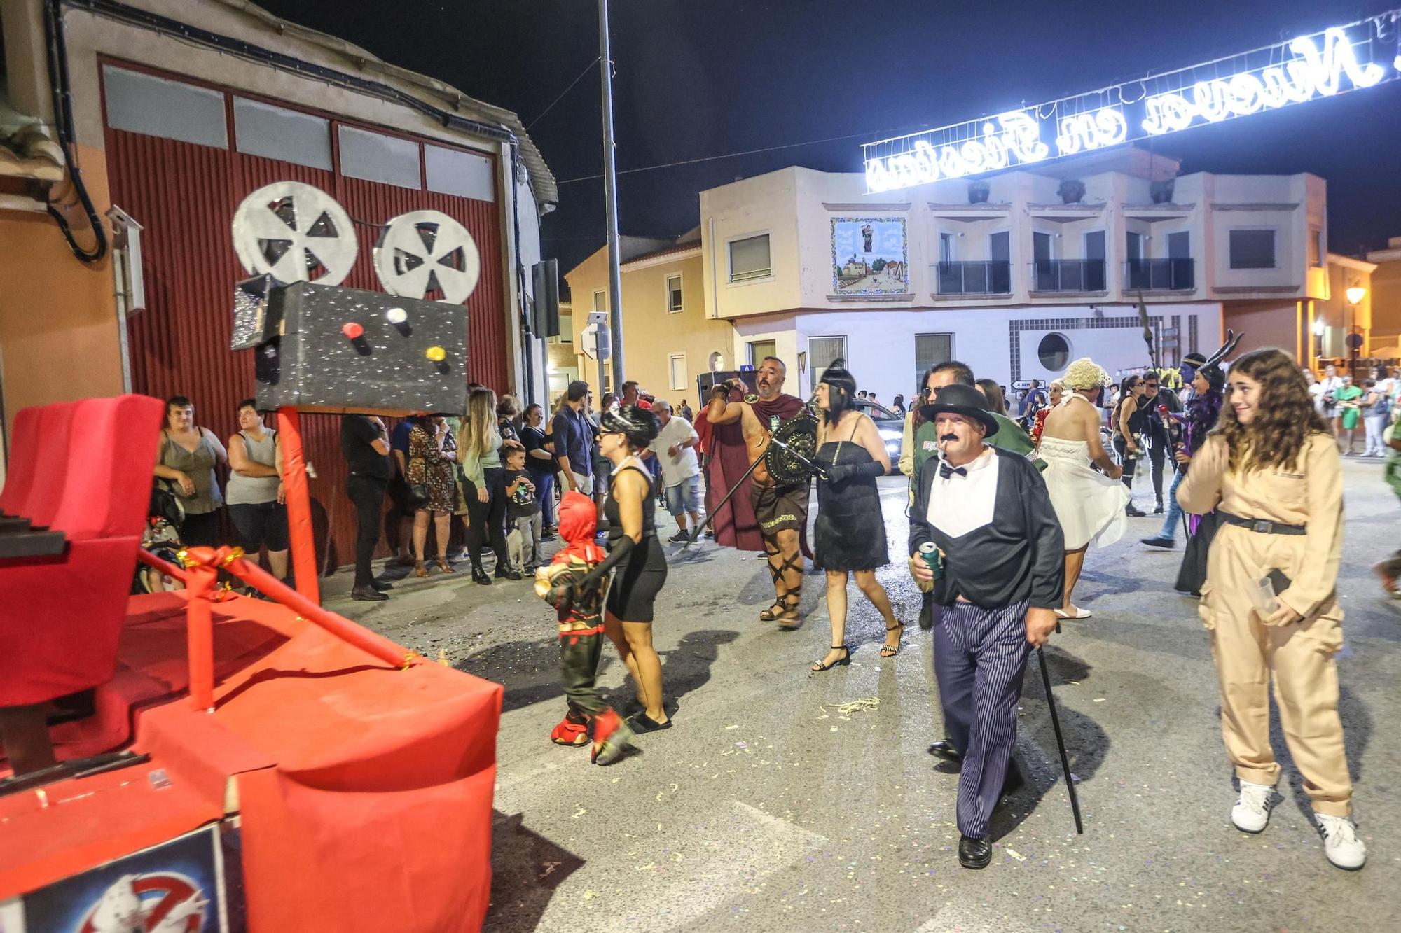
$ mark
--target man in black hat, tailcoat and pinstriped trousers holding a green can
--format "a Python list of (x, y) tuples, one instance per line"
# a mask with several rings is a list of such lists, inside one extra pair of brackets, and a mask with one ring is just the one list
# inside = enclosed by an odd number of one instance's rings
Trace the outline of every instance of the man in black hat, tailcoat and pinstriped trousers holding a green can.
[[(975, 388), (950, 385), (920, 415), (937, 431), (941, 458), (919, 469), (909, 511), (909, 553), (933, 544), (937, 574), (915, 560), (919, 581), (934, 583), (943, 607), (934, 625), (934, 674), (944, 728), (962, 749), (958, 778), (958, 862), (992, 859), (988, 824), (1009, 783), (1017, 737), (1021, 675), (1033, 646), (1055, 629), (1065, 598), (1065, 539), (1041, 474), (1024, 457), (985, 438), (998, 420)], [(926, 549), (927, 553), (927, 549)]]

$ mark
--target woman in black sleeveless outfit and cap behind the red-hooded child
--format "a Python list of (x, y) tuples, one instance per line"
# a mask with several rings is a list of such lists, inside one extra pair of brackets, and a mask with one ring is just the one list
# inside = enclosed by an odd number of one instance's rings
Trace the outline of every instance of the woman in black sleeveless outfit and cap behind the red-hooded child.
[(657, 417), (644, 408), (622, 405), (604, 410), (598, 440), (612, 466), (608, 502), (608, 558), (591, 576), (618, 569), (604, 614), (604, 633), (616, 646), (637, 685), (642, 712), (629, 720), (633, 733), (671, 728), (663, 707), (661, 658), (651, 647), (657, 593), (667, 581), (667, 555), (657, 539), (657, 497), (651, 474), (637, 454), (656, 438)]

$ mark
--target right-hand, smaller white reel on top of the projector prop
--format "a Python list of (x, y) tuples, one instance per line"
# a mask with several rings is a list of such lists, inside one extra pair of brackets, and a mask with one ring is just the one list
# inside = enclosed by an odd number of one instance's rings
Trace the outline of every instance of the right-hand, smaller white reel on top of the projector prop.
[(437, 210), (413, 210), (380, 235), (374, 270), (389, 294), (462, 304), (476, 289), (482, 258), (467, 227)]

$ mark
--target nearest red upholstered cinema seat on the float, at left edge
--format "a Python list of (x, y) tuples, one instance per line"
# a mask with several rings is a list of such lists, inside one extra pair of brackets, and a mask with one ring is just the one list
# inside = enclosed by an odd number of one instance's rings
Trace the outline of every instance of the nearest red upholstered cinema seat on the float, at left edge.
[(69, 545), (57, 558), (0, 563), (0, 706), (39, 703), (111, 679), (150, 502), (158, 441), (151, 426), (161, 408), (143, 395), (87, 399), (55, 431), (71, 437), (62, 459), (49, 438), (55, 457), (39, 461), (31, 497), (52, 507), (46, 524)]

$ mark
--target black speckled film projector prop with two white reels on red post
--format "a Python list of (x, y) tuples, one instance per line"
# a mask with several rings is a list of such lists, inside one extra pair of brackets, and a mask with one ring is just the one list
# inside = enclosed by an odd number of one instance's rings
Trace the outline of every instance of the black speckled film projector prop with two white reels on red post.
[(343, 289), (354, 226), (329, 195), (275, 182), (234, 212), (254, 276), (234, 289), (231, 350), (256, 356), (258, 408), (277, 410), (297, 591), (319, 601), (311, 492), (297, 412), (455, 413), (467, 408), (467, 301), (482, 269), (472, 235), (436, 210), (391, 219), (374, 247), (384, 293)]

